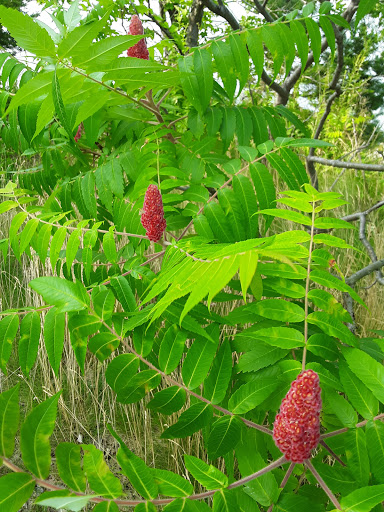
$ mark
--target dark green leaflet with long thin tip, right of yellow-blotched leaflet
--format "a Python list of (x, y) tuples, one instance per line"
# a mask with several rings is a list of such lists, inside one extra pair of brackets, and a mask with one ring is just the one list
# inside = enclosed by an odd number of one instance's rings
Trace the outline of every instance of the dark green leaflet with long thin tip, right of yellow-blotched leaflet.
[(117, 461), (121, 466), (123, 474), (129, 478), (133, 487), (144, 499), (151, 500), (156, 498), (159, 491), (153, 472), (140, 457), (127, 448), (112, 427), (108, 426), (108, 428), (120, 444), (119, 451), (117, 452)]

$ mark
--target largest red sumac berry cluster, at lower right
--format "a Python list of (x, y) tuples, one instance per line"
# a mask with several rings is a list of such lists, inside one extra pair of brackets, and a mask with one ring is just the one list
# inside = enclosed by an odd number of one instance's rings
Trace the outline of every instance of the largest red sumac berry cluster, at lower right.
[(300, 373), (281, 402), (273, 439), (287, 460), (302, 463), (320, 441), (321, 389), (313, 370)]

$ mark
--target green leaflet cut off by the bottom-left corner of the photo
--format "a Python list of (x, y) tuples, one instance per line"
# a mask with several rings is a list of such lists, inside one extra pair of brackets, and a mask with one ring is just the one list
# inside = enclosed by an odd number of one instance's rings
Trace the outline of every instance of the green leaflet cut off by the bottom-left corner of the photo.
[(31, 497), (35, 480), (27, 473), (8, 473), (0, 478), (0, 509), (19, 512)]

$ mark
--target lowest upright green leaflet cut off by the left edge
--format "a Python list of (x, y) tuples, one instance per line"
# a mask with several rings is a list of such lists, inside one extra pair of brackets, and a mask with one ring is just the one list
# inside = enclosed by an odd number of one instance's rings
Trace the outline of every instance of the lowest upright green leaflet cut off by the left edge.
[(11, 457), (19, 428), (19, 388), (17, 384), (0, 394), (0, 455)]

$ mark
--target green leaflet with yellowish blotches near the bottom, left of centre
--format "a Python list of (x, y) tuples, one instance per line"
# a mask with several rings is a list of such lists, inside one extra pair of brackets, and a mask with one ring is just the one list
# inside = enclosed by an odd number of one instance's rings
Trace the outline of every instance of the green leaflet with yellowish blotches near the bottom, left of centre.
[(100, 496), (106, 498), (118, 498), (123, 494), (123, 489), (104, 461), (103, 453), (93, 445), (82, 445), (84, 451), (84, 472), (91, 489)]

